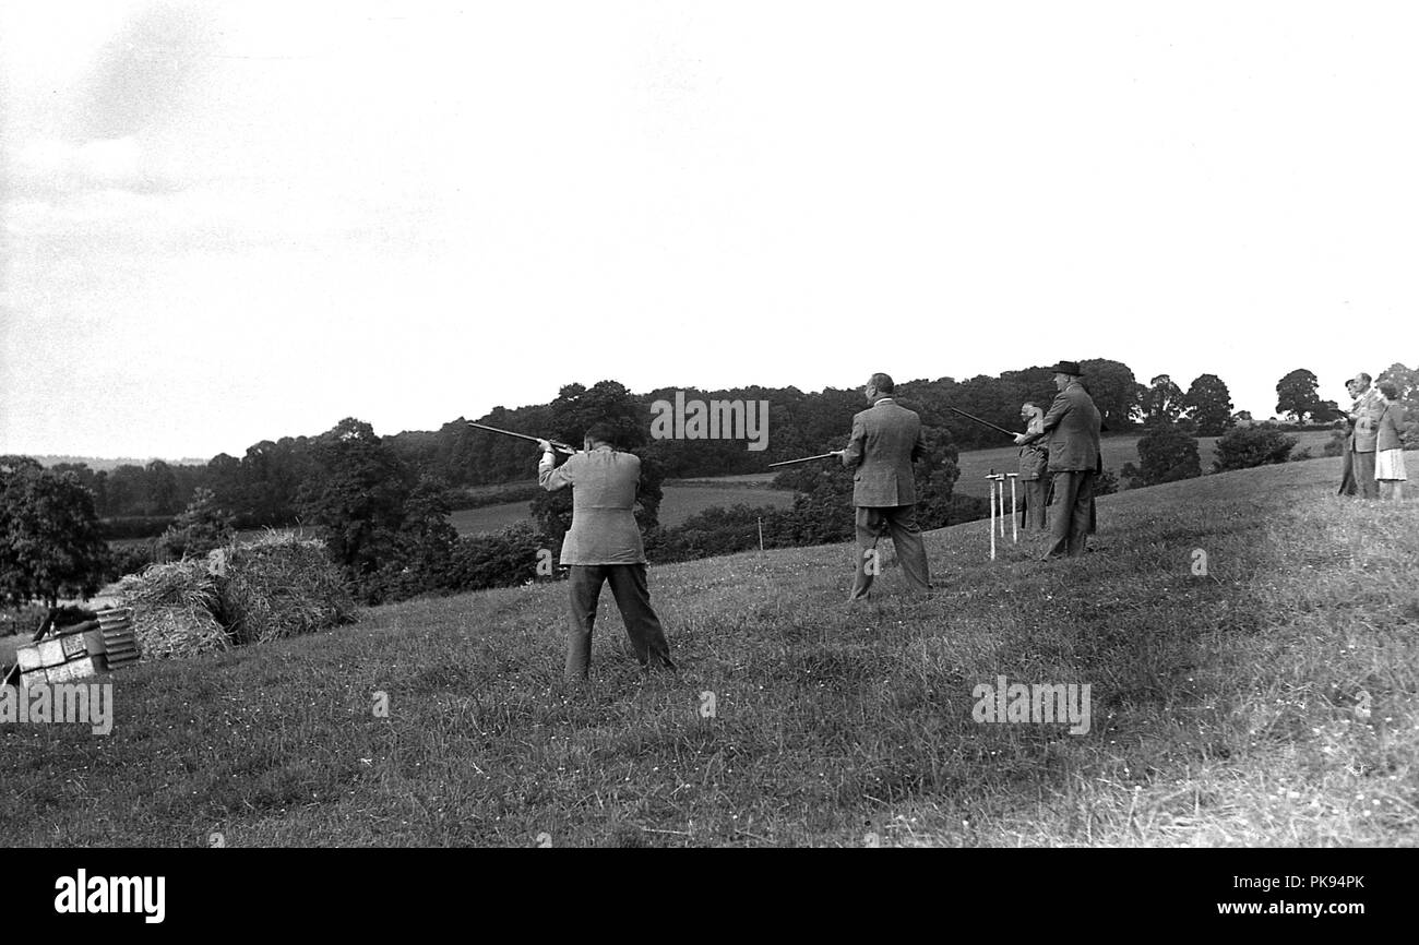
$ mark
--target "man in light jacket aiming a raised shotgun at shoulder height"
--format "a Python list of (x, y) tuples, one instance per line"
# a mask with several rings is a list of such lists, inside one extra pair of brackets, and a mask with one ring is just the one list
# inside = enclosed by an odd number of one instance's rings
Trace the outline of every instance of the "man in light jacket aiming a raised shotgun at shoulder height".
[(572, 487), (572, 528), (562, 539), (562, 563), (572, 569), (568, 582), (570, 631), (566, 640), (566, 678), (570, 682), (585, 680), (590, 668), (592, 627), (602, 582), (612, 586), (641, 673), (650, 674), (651, 658), (675, 671), (660, 617), (650, 606), (646, 549), (636, 525), (640, 457), (616, 453), (612, 446), (614, 438), (610, 424), (593, 424), (586, 431), (585, 451), (555, 470), (552, 444), (538, 440), (542, 447), (538, 482), (548, 492)]

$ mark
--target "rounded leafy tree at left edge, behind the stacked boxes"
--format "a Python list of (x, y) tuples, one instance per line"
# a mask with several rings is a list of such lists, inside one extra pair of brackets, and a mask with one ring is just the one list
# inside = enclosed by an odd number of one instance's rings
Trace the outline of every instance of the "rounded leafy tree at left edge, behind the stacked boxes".
[(0, 597), (51, 607), (61, 596), (89, 597), (106, 565), (94, 492), (78, 475), (0, 458)]

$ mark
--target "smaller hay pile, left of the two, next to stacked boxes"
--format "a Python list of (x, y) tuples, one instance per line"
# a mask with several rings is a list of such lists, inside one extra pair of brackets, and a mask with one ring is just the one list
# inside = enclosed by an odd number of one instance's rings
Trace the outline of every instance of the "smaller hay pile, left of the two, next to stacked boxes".
[(217, 579), (206, 562), (152, 565), (123, 578), (116, 596), (122, 606), (133, 609), (133, 634), (143, 660), (197, 656), (231, 644), (213, 616)]

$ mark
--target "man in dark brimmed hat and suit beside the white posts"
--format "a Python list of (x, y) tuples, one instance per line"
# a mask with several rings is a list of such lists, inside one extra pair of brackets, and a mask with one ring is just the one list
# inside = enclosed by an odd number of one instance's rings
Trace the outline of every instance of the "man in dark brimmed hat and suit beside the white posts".
[(1098, 477), (1098, 409), (1080, 383), (1073, 360), (1051, 369), (1059, 394), (1044, 414), (1039, 433), (1015, 437), (1019, 446), (1049, 437), (1049, 472), (1054, 477), (1054, 512), (1050, 515), (1050, 549), (1044, 559), (1078, 558), (1088, 543), (1088, 505)]

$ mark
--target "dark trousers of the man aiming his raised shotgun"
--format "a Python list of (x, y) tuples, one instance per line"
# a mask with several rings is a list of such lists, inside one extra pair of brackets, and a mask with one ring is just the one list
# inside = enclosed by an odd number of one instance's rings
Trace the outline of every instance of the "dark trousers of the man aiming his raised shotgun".
[(626, 623), (626, 636), (636, 651), (641, 668), (656, 657), (660, 665), (674, 670), (670, 644), (660, 627), (660, 617), (650, 606), (650, 586), (644, 565), (572, 565), (568, 580), (570, 593), (570, 627), (566, 639), (566, 678), (585, 680), (592, 665), (592, 627), (596, 624), (596, 603), (602, 596), (602, 582), (609, 582), (616, 607)]

